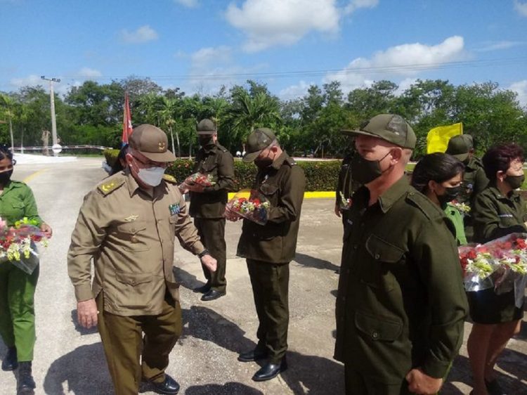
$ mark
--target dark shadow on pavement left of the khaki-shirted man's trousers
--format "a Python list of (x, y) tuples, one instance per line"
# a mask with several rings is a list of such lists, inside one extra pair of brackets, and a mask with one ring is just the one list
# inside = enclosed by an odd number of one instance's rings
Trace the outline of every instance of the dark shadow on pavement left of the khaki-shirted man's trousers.
[(113, 394), (113, 384), (98, 342), (77, 347), (51, 363), (44, 379), (46, 394)]

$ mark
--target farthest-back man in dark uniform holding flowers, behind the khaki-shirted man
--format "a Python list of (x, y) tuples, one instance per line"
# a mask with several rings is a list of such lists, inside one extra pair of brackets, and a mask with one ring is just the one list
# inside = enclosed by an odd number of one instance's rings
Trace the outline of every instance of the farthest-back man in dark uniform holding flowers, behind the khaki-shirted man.
[(194, 217), (194, 226), (201, 242), (218, 261), (217, 269), (211, 273), (203, 266), (207, 283), (195, 289), (202, 292), (202, 300), (209, 301), (222, 297), (226, 292), (225, 279), (227, 247), (225, 244), (225, 205), (227, 193), (234, 190), (234, 160), (227, 148), (218, 143), (216, 125), (210, 119), (197, 124), (197, 138), (201, 148), (197, 152), (194, 172), (210, 176), (212, 186), (184, 184), (183, 189), (190, 190), (190, 216)]

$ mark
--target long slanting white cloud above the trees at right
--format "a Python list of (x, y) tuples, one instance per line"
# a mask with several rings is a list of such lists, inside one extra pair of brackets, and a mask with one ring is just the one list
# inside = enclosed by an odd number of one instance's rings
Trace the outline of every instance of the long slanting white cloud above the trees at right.
[(467, 58), (463, 37), (453, 36), (437, 45), (402, 44), (378, 51), (372, 58), (356, 58), (339, 72), (329, 73), (325, 82), (340, 81), (344, 91), (351, 91), (370, 80), (393, 76), (412, 77), (443, 63)]

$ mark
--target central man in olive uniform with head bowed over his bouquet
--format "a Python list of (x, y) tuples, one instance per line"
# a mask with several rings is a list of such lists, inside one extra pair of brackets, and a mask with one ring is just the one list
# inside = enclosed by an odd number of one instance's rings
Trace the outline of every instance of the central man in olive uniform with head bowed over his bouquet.
[[(254, 190), (270, 203), (264, 225), (244, 219), (238, 242), (238, 256), (247, 259), (249, 278), (259, 327), (258, 344), (240, 354), (238, 361), (267, 358), (252, 377), (271, 380), (287, 368), (287, 326), (289, 324), (289, 262), (294, 259), (304, 200), (304, 171), (280, 148), (271, 129), (259, 128), (247, 138), (244, 162), (254, 162), (258, 173)], [(238, 216), (227, 212), (228, 219)]]

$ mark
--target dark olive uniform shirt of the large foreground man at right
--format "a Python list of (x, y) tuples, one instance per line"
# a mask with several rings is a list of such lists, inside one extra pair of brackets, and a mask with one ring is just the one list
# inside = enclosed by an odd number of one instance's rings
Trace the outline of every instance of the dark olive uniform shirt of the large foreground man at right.
[(467, 315), (445, 215), (405, 176), (370, 207), (369, 196), (353, 195), (344, 230), (334, 357), (385, 384), (416, 367), (444, 377)]

